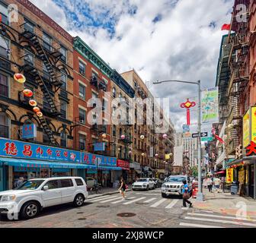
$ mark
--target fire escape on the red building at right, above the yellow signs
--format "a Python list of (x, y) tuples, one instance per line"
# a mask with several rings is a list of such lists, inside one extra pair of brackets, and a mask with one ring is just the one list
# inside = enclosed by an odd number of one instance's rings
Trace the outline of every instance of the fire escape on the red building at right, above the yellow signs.
[[(242, 113), (241, 104), (245, 103), (245, 88), (249, 80), (249, 36), (248, 21), (236, 22), (235, 12), (232, 18), (232, 30), (235, 35), (230, 36), (232, 49), (229, 55), (231, 78), (229, 80), (229, 118), (228, 118), (228, 153), (235, 155), (235, 148), (242, 143)], [(249, 13), (246, 13), (247, 18)]]

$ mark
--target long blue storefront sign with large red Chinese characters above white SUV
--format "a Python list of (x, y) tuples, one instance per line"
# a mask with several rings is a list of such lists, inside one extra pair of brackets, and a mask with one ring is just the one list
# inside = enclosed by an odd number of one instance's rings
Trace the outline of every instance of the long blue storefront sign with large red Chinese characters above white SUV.
[(0, 156), (80, 163), (80, 152), (0, 138)]

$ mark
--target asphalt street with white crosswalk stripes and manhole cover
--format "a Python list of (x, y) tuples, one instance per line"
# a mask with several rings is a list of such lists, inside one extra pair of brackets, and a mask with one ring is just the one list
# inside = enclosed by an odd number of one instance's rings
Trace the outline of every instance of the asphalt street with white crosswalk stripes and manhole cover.
[(178, 196), (162, 198), (161, 189), (129, 191), (126, 200), (120, 194), (87, 200), (83, 207), (70, 204), (44, 209), (36, 218), (8, 221), (0, 218), (0, 228), (241, 228), (256, 227), (256, 219), (238, 220), (235, 216), (210, 210), (182, 208)]

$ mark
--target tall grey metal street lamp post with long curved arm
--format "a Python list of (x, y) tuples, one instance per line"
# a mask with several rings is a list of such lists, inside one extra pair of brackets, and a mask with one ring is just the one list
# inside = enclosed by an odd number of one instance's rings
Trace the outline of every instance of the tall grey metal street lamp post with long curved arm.
[(201, 180), (201, 81), (197, 82), (186, 82), (181, 80), (164, 80), (153, 82), (153, 84), (162, 84), (167, 82), (183, 83), (183, 84), (197, 84), (198, 87), (198, 110), (197, 110), (197, 132), (198, 132), (198, 193), (197, 200), (203, 201), (203, 190), (202, 190), (202, 180)]

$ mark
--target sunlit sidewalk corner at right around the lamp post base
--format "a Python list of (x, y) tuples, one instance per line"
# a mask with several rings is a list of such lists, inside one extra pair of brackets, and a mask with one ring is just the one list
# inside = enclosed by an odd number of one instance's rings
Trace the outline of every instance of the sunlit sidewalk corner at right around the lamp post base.
[(247, 197), (239, 197), (223, 192), (210, 193), (203, 188), (203, 202), (198, 202), (195, 198), (191, 199), (194, 208), (200, 210), (211, 210), (215, 213), (242, 216), (242, 211), (247, 213), (247, 217), (256, 219), (256, 200)]

